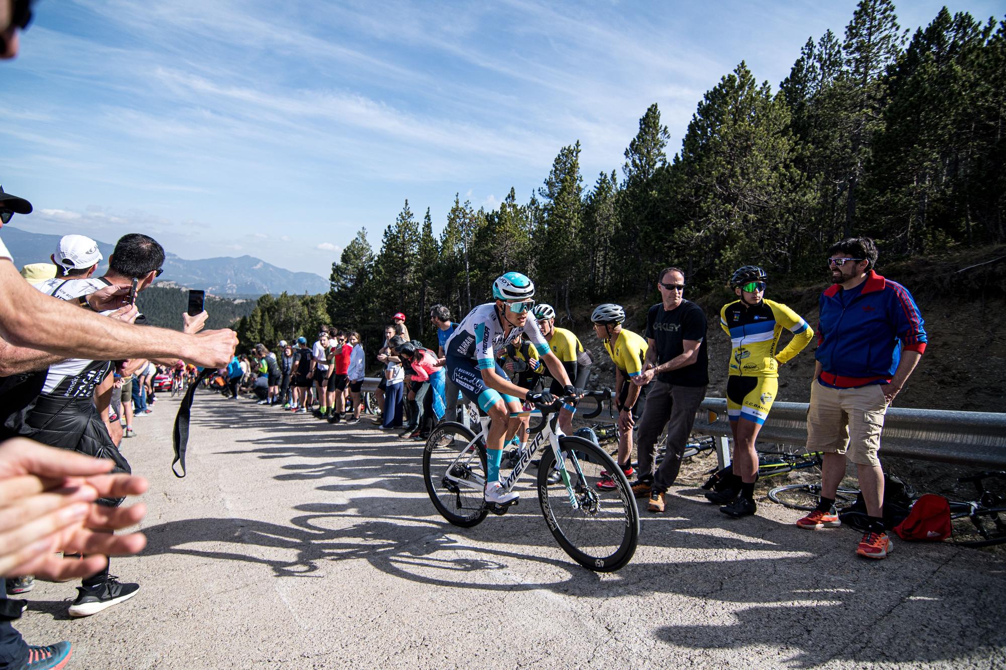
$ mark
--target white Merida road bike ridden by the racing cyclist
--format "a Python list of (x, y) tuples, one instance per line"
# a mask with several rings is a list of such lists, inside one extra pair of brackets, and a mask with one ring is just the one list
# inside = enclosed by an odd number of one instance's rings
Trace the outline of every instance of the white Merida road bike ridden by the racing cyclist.
[[(611, 456), (590, 440), (563, 435), (558, 429), (558, 411), (564, 401), (575, 399), (558, 398), (550, 404), (534, 405), (541, 421), (528, 430), (528, 440), (501, 484), (505, 491), (513, 490), (531, 459), (541, 451), (538, 504), (552, 536), (580, 565), (613, 572), (625, 566), (636, 551), (640, 530), (636, 499), (629, 480)], [(441, 424), (423, 452), (423, 477), (434, 507), (463, 528), (481, 523), (489, 512), (505, 514), (519, 500), (509, 505), (485, 501), (490, 422), (480, 412), (478, 434), (463, 424)], [(598, 488), (598, 483), (609, 477), (614, 479), (615, 488)]]

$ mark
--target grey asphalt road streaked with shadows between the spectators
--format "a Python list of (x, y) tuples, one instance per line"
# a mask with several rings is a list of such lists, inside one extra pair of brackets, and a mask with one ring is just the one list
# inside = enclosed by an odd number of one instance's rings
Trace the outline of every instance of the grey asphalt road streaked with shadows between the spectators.
[[(693, 488), (643, 514), (615, 574), (573, 563), (531, 489), (504, 517), (436, 515), (422, 445), (371, 428), (196, 396), (176, 479), (162, 394), (125, 441), (151, 483), (141, 584), (82, 620), (74, 583), (36, 582), (16, 622), (74, 643), (69, 668), (1006, 667), (1006, 562), (983, 550), (808, 532), (762, 503), (728, 519)], [(532, 471), (533, 472), (533, 471)]]

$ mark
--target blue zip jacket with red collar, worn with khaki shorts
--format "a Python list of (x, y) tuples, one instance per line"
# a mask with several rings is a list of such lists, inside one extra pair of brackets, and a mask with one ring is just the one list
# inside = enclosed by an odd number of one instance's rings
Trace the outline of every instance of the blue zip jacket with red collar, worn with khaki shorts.
[(821, 294), (814, 357), (827, 386), (887, 383), (902, 349), (926, 350), (923, 315), (907, 289), (872, 270), (859, 289), (846, 292), (835, 284)]

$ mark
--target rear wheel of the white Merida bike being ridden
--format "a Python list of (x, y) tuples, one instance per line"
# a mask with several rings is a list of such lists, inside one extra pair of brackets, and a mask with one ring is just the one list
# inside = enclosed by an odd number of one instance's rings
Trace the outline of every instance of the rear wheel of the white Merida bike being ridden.
[(486, 447), (461, 424), (438, 426), (423, 450), (423, 480), (434, 507), (456, 526), (470, 528), (486, 518)]

